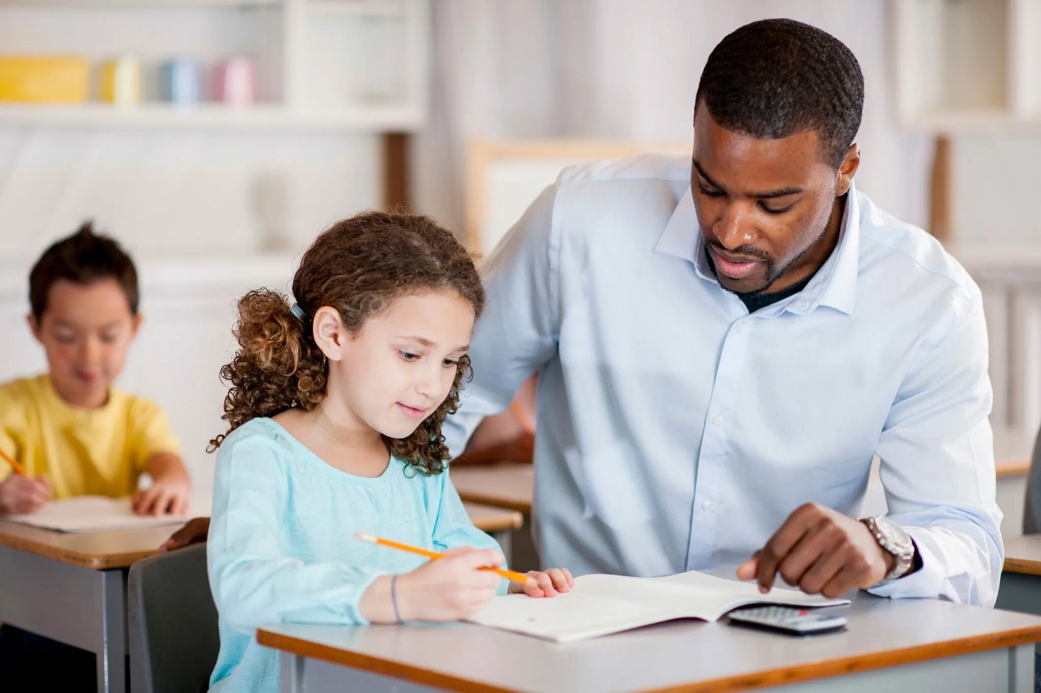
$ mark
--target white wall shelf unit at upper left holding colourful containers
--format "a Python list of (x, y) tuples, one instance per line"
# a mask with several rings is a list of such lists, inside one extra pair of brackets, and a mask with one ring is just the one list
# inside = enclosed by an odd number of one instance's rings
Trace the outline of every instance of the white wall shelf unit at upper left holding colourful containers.
[[(427, 111), (430, 0), (0, 0), (0, 53), (143, 66), (141, 105), (0, 103), (0, 124), (411, 131)], [(256, 65), (257, 102), (205, 103), (212, 67)], [(159, 65), (201, 66), (204, 103), (159, 99)], [(96, 77), (96, 75), (95, 75)]]

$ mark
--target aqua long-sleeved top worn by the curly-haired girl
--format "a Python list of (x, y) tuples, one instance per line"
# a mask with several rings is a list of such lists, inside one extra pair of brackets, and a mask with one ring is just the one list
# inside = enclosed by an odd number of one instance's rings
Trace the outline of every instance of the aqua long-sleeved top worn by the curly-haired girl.
[(278, 652), (257, 644), (257, 627), (366, 624), (358, 601), (369, 585), (426, 561), (355, 532), (429, 550), (501, 551), (469, 521), (447, 471), (424, 477), (391, 459), (380, 477), (355, 477), (270, 418), (227, 437), (217, 454), (206, 548), (221, 631), (210, 691), (278, 691)]

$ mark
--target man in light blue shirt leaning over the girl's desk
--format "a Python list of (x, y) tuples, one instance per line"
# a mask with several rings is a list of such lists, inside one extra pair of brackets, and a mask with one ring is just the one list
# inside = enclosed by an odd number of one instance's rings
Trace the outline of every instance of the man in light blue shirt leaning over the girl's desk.
[[(545, 564), (993, 604), (980, 289), (854, 186), (863, 99), (834, 36), (741, 27), (702, 74), (692, 161), (567, 169), (488, 258), (446, 433), (461, 451), (539, 374)], [(859, 519), (875, 455), (889, 512)]]

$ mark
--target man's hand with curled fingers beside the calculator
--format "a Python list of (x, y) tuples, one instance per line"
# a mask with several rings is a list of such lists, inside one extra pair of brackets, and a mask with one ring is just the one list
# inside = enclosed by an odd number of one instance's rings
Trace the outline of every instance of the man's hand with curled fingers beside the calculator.
[(874, 587), (895, 560), (863, 522), (808, 503), (738, 567), (737, 578), (755, 578), (765, 594), (780, 571), (789, 585), (797, 585), (807, 594), (837, 597), (854, 588)]

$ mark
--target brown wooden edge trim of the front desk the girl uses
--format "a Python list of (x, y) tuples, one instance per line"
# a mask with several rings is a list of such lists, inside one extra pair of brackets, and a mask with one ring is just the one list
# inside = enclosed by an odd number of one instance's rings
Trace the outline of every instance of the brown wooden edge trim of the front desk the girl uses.
[[(900, 649), (883, 650), (869, 654), (844, 657), (834, 660), (814, 662), (812, 664), (795, 665), (778, 669), (768, 669), (751, 674), (738, 674), (704, 681), (692, 684), (681, 684), (658, 689), (645, 689), (644, 693), (718, 693), (720, 691), (737, 691), (747, 688), (779, 686), (793, 684), (814, 678), (827, 678), (857, 671), (870, 671), (883, 667), (913, 664), (957, 654), (969, 654), (1025, 645), (1041, 640), (1041, 625), (1033, 625), (1014, 631), (983, 636), (959, 638), (943, 642), (916, 645)], [(421, 667), (391, 662), (378, 657), (346, 651), (329, 645), (301, 640), (293, 636), (271, 633), (262, 628), (257, 631), (257, 642), (268, 647), (303, 657), (310, 657), (332, 664), (349, 666), (364, 671), (392, 676), (404, 681), (415, 682), (448, 688), (463, 693), (517, 693), (515, 689), (499, 688), (482, 682), (460, 678), (452, 674), (430, 671)]]

